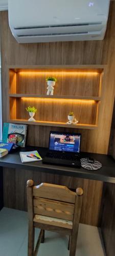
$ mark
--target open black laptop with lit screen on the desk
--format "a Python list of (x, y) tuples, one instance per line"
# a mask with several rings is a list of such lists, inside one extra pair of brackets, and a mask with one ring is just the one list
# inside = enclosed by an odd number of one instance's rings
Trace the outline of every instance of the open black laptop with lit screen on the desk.
[(42, 162), (80, 168), (80, 142), (81, 134), (50, 132), (49, 151)]

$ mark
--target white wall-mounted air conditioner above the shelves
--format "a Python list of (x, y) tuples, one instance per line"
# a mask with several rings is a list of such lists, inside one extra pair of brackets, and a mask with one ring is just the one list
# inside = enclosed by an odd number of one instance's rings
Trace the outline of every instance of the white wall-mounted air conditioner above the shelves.
[(9, 25), (20, 42), (102, 40), (109, 0), (9, 0)]

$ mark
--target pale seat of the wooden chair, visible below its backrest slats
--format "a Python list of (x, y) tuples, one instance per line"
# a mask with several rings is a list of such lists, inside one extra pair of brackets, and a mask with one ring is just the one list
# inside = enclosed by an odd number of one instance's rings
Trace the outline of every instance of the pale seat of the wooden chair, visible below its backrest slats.
[(72, 221), (65, 221), (62, 219), (57, 219), (57, 218), (52, 218), (52, 217), (47, 217), (47, 216), (42, 216), (42, 215), (35, 215), (34, 222), (37, 223), (42, 223), (42, 224), (48, 224), (48, 225), (53, 225), (57, 227), (64, 227), (64, 228), (73, 228), (73, 222)]

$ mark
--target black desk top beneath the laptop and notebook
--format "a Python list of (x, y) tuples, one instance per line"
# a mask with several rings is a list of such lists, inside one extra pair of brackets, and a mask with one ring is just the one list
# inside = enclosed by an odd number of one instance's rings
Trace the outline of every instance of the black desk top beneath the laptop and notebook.
[[(43, 158), (48, 148), (45, 147), (30, 147), (21, 148), (20, 151), (33, 151), (37, 150)], [(19, 152), (8, 154), (0, 159), (0, 166), (9, 168), (21, 168), (38, 170), (38, 172), (52, 173), (58, 175), (65, 175), (71, 177), (78, 177), (83, 179), (98, 180), (104, 182), (115, 183), (115, 160), (108, 155), (94, 154), (94, 153), (81, 153), (81, 157), (91, 157), (97, 159), (102, 163), (102, 168), (99, 170), (86, 170), (84, 168), (72, 168), (51, 164), (42, 164), (42, 161), (21, 163)]]

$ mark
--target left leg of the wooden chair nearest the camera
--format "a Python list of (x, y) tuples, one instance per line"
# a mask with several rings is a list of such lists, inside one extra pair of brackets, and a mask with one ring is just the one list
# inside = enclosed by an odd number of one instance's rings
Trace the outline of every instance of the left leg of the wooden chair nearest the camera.
[(34, 256), (34, 236), (35, 236), (35, 228), (33, 226), (33, 222), (29, 222), (29, 229), (28, 229), (28, 256)]

